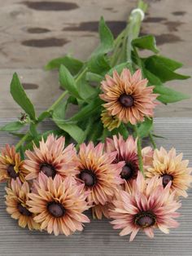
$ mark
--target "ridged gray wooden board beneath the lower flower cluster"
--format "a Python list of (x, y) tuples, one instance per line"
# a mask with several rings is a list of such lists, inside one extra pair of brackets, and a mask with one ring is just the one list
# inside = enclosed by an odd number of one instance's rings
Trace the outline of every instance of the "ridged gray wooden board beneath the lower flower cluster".
[[(0, 125), (7, 123), (1, 119)], [(40, 126), (41, 130), (52, 127), (50, 121)], [(185, 159), (192, 162), (192, 119), (156, 118), (155, 133), (167, 139), (156, 139), (158, 146), (177, 148), (184, 152)], [(0, 146), (16, 141), (7, 133), (0, 133)], [(129, 243), (129, 236), (120, 237), (107, 220), (93, 220), (85, 225), (85, 230), (70, 237), (50, 236), (45, 232), (29, 232), (17, 226), (15, 220), (6, 213), (4, 188), (0, 186), (0, 255), (20, 256), (160, 256), (191, 255), (192, 253), (192, 191), (182, 200), (180, 227), (172, 229), (169, 235), (155, 232), (155, 239), (148, 239), (139, 232), (135, 241)]]

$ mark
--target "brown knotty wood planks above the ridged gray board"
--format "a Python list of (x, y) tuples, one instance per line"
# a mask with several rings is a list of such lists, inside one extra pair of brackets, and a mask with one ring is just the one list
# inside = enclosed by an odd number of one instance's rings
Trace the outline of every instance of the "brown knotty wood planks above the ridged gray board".
[[(191, 74), (191, 0), (146, 1), (150, 7), (142, 33), (154, 34), (161, 54), (181, 60), (185, 64), (181, 72)], [(117, 34), (136, 3), (137, 0), (0, 0), (0, 117), (20, 114), (20, 108), (9, 95), (15, 71), (40, 112), (61, 93), (57, 73), (43, 71), (47, 61), (68, 52), (85, 60), (98, 45), (100, 16)], [(192, 79), (168, 85), (192, 95), (191, 83)], [(192, 117), (192, 99), (169, 108), (160, 105), (155, 114)]]

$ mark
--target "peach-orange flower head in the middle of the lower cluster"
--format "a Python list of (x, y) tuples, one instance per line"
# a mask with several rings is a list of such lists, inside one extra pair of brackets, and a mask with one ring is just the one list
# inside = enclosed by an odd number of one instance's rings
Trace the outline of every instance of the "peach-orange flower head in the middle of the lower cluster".
[(103, 153), (103, 147), (103, 143), (98, 143), (95, 148), (94, 143), (87, 146), (83, 143), (79, 152), (77, 180), (85, 183), (85, 191), (89, 192), (87, 200), (94, 205), (105, 205), (122, 182), (120, 170), (124, 162), (113, 164), (116, 152)]

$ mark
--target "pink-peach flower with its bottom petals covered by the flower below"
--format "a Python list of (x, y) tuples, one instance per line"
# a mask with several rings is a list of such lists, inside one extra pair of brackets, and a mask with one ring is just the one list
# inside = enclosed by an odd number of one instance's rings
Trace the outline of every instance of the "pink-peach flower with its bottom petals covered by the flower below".
[(34, 152), (26, 151), (28, 160), (24, 161), (24, 167), (29, 171), (26, 179), (36, 179), (40, 173), (52, 178), (56, 174), (63, 178), (75, 176), (76, 151), (73, 144), (64, 148), (64, 143), (64, 137), (57, 139), (49, 135), (46, 142), (41, 140), (39, 148), (33, 146)]

